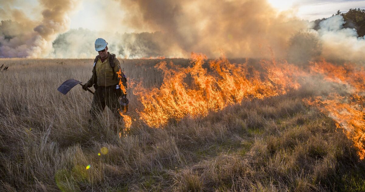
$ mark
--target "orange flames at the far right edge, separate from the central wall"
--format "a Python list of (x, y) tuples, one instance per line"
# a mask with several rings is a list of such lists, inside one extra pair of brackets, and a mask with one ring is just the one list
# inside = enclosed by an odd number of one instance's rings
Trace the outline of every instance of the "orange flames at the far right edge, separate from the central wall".
[(337, 93), (331, 93), (328, 97), (309, 98), (304, 101), (333, 118), (337, 126), (343, 128), (347, 138), (353, 141), (360, 159), (364, 159), (365, 98), (362, 92), (365, 88), (364, 68), (356, 68), (354, 64), (337, 66), (324, 60), (311, 64), (312, 73), (323, 75), (324, 80), (329, 82), (345, 85), (348, 94), (340, 96)]

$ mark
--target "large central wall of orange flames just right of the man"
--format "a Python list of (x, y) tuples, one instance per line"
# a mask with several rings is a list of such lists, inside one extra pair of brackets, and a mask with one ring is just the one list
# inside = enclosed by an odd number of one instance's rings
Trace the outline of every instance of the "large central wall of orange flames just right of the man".
[[(247, 61), (231, 64), (225, 57), (209, 61), (212, 72), (208, 72), (203, 67), (205, 60), (205, 55), (192, 53), (192, 67), (182, 68), (166, 61), (157, 64), (155, 68), (162, 70), (164, 75), (161, 87), (149, 90), (139, 83), (134, 90), (144, 106), (142, 111), (137, 111), (140, 119), (150, 127), (161, 127), (170, 118), (180, 120), (187, 115), (206, 116), (209, 111), (241, 103), (244, 98), (263, 99), (285, 94), (300, 86), (293, 74), (297, 68), (288, 63), (261, 61), (262, 67), (267, 70), (266, 74), (262, 74), (247, 68)], [(262, 75), (266, 76), (266, 80), (261, 80)], [(188, 86), (189, 80), (192, 86)]]

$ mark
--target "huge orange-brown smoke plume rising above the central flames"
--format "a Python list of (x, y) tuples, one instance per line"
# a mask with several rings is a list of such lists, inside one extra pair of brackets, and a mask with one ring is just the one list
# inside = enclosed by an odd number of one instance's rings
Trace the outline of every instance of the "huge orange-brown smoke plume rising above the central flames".
[(120, 0), (124, 23), (141, 31), (162, 31), (186, 57), (283, 57), (288, 39), (307, 23), (278, 13), (266, 0)]

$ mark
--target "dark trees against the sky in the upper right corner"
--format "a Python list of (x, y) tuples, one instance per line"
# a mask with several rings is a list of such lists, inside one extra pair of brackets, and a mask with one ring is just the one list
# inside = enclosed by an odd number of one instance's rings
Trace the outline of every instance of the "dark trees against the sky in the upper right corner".
[[(356, 29), (358, 37), (363, 37), (365, 35), (365, 10), (354, 8), (350, 9), (346, 13), (342, 13), (340, 10), (338, 10), (334, 15), (342, 15), (346, 22), (343, 27)], [(325, 19), (326, 18), (315, 20), (314, 29), (318, 30), (319, 23)]]

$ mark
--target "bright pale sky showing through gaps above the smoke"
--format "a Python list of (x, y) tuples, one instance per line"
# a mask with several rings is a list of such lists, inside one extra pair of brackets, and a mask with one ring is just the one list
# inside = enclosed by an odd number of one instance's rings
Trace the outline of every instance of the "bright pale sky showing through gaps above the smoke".
[[(332, 16), (337, 10), (342, 12), (348, 11), (350, 8), (362, 8), (365, 9), (365, 0), (268, 0), (273, 7), (280, 11), (286, 11), (294, 9), (296, 15), (304, 20), (316, 20), (322, 18), (328, 18)], [(120, 9), (118, 3), (111, 1), (104, 1), (106, 3), (100, 3), (97, 0), (83, 1), (80, 10), (77, 11), (71, 17), (71, 29), (77, 29), (79, 27), (87, 28), (91, 30), (98, 30), (100, 27), (95, 23), (103, 23), (103, 20), (118, 20), (118, 17), (123, 16), (123, 12)], [(116, 14), (97, 14), (103, 6), (108, 6)], [(101, 8), (100, 8), (101, 7)], [(105, 16), (108, 16), (106, 18)], [(96, 22), (95, 22), (96, 21)], [(106, 26), (103, 26), (106, 27)], [(134, 31), (128, 28), (122, 28), (123, 32), (141, 32)]]

